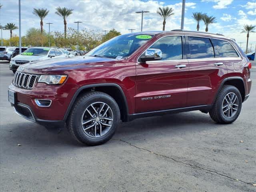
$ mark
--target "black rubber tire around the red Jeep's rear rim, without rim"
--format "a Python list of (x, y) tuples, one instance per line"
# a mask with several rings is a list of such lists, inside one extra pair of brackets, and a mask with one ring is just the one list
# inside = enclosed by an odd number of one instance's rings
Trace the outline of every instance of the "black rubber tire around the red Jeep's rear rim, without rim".
[[(231, 93), (236, 94), (237, 99), (238, 99), (238, 101), (237, 101), (238, 107), (237, 107), (237, 110), (235, 111), (234, 116), (227, 117), (224, 114), (224, 110), (222, 110), (222, 105), (223, 105), (226, 95), (231, 94)], [(224, 85), (223, 88), (220, 90), (209, 114), (210, 114), (210, 117), (212, 118), (212, 120), (214, 120), (215, 122), (221, 123), (221, 124), (229, 124), (229, 123), (234, 122), (238, 118), (238, 116), (241, 112), (241, 108), (242, 108), (242, 96), (241, 96), (240, 91), (234, 86)], [(234, 111), (234, 110), (232, 110), (232, 111)]]

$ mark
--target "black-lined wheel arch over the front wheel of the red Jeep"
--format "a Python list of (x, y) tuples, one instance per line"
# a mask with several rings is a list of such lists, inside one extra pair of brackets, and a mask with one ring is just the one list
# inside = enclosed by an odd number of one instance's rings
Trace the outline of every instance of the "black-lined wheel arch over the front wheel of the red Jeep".
[(114, 98), (114, 100), (117, 102), (119, 109), (120, 109), (120, 115), (122, 121), (128, 120), (128, 104), (126, 100), (126, 96), (122, 90), (122, 88), (115, 83), (100, 83), (100, 84), (90, 84), (80, 87), (76, 93), (74, 94), (72, 100), (70, 101), (70, 104), (68, 105), (68, 108), (66, 110), (66, 113), (64, 115), (64, 121), (68, 119), (68, 116), (70, 114), (70, 111), (72, 107), (74, 106), (74, 102), (76, 99), (85, 92), (89, 91), (100, 91), (104, 92), (111, 97)]

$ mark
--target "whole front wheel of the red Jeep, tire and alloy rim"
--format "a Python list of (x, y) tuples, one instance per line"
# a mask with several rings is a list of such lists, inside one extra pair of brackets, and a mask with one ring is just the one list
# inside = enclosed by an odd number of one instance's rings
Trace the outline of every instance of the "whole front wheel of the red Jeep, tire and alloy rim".
[(112, 138), (120, 121), (116, 101), (103, 92), (79, 97), (71, 111), (68, 130), (79, 142), (100, 145)]

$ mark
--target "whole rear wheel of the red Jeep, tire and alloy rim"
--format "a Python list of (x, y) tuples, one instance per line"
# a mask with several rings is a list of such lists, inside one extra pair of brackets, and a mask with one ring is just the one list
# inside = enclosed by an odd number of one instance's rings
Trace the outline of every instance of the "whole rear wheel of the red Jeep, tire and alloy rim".
[(234, 122), (242, 108), (240, 91), (231, 85), (224, 85), (209, 114), (212, 120), (222, 124)]

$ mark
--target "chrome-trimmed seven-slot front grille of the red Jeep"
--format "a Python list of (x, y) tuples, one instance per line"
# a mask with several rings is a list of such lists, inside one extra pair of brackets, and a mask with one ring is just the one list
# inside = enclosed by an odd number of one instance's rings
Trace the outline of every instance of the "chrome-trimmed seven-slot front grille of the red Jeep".
[(34, 87), (37, 77), (37, 75), (17, 71), (14, 74), (12, 84), (16, 87), (32, 89)]

